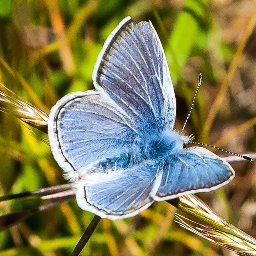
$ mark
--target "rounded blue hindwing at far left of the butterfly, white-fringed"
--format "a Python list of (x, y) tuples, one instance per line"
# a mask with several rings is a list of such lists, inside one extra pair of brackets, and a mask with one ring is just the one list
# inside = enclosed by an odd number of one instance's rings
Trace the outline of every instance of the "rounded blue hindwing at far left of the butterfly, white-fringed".
[(121, 111), (95, 91), (71, 93), (57, 102), (48, 134), (54, 158), (67, 174), (86, 172), (88, 165), (118, 156), (133, 142), (137, 131)]

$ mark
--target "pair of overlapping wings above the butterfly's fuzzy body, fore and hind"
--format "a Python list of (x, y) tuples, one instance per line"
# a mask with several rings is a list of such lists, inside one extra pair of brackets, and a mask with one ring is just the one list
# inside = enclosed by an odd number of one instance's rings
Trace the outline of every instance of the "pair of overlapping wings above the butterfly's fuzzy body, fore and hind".
[(134, 138), (174, 125), (174, 90), (151, 23), (122, 20), (106, 40), (92, 78), (97, 92), (69, 94), (50, 112), (50, 146), (66, 173), (118, 156)]

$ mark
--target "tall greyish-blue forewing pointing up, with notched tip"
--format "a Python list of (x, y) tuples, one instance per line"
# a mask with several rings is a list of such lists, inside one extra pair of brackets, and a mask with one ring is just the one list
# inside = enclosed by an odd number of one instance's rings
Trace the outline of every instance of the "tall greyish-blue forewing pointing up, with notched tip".
[(140, 131), (172, 129), (174, 90), (162, 44), (151, 22), (124, 18), (107, 38), (94, 66), (94, 86), (120, 106)]

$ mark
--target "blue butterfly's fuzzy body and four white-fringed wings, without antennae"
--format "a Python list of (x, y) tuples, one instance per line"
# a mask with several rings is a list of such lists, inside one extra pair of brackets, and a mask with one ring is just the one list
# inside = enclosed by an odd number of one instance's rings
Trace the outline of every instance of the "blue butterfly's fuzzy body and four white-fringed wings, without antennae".
[(54, 158), (80, 208), (112, 220), (154, 201), (210, 191), (234, 178), (228, 162), (175, 131), (176, 101), (151, 22), (124, 18), (92, 74), (95, 90), (64, 96), (51, 109)]

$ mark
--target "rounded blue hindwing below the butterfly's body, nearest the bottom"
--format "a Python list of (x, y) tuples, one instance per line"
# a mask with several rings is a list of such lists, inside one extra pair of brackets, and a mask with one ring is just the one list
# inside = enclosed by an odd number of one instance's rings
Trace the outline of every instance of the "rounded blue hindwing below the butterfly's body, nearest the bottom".
[[(77, 183), (78, 206), (102, 218), (128, 218), (148, 208), (160, 185), (162, 170), (143, 163), (125, 170), (95, 173)], [(84, 185), (83, 185), (84, 183)]]

